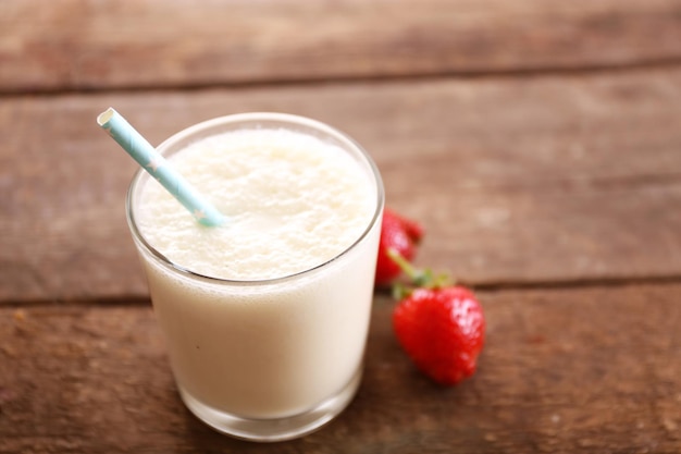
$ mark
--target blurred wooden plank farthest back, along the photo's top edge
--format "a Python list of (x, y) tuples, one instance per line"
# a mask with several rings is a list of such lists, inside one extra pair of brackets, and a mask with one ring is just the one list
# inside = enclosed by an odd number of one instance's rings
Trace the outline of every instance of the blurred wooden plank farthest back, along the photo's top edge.
[(681, 0), (5, 0), (0, 91), (679, 61), (680, 11)]

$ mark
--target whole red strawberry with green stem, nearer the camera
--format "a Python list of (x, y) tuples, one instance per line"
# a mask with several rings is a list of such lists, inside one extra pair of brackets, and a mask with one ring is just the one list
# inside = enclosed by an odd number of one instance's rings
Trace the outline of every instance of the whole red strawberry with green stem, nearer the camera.
[[(398, 257), (397, 260), (403, 260)], [(434, 381), (451, 385), (475, 371), (485, 319), (468, 289), (442, 284), (430, 272), (407, 270), (420, 285), (403, 296), (393, 312), (397, 340), (416, 366)]]

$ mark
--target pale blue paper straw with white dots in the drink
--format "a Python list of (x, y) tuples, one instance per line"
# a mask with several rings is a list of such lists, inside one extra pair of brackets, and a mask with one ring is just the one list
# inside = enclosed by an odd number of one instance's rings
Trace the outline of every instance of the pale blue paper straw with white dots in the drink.
[(97, 116), (97, 123), (189, 210), (198, 222), (210, 226), (224, 222), (224, 216), (177, 173), (119, 112), (109, 108)]

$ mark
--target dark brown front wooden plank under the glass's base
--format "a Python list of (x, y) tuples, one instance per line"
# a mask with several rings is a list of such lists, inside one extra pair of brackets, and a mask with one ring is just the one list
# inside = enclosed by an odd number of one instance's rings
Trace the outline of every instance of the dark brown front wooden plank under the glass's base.
[(183, 407), (148, 306), (4, 307), (0, 452), (678, 453), (679, 294), (679, 283), (480, 292), (486, 345), (453, 389), (413, 369), (379, 296), (357, 398), (274, 445), (214, 433)]

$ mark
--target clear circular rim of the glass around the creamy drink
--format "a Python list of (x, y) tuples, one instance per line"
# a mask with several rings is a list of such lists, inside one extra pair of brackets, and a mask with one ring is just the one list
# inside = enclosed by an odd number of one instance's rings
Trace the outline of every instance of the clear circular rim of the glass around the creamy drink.
[[(362, 231), (362, 233), (350, 245), (345, 247), (340, 253), (336, 254), (331, 259), (323, 261), (322, 263), (315, 265), (314, 267), (307, 268), (302, 271), (298, 271), (292, 274), (286, 274), (286, 275), (282, 275), (277, 278), (271, 278), (271, 279), (249, 279), (249, 280), (223, 279), (223, 278), (215, 278), (215, 277), (211, 277), (207, 274), (201, 274), (199, 272), (193, 271), (186, 267), (183, 267), (181, 265), (173, 262), (165, 255), (163, 255), (160, 250), (153, 247), (145, 238), (143, 233), (139, 231), (137, 226), (137, 221), (135, 218), (134, 209), (133, 209), (134, 207), (133, 199), (135, 198), (135, 192), (138, 185), (140, 184), (140, 182), (143, 181), (143, 177), (147, 173), (143, 168), (139, 168), (135, 171), (135, 174), (133, 175), (133, 179), (129, 183), (129, 186), (127, 188), (127, 194), (125, 197), (125, 214), (126, 214), (127, 225), (131, 230), (133, 238), (135, 243), (137, 244), (138, 248), (143, 249), (144, 253), (147, 253), (148, 255), (150, 255), (154, 261), (159, 262), (163, 267), (174, 272), (179, 273), (181, 275), (185, 278), (188, 278), (191, 280), (200, 280), (200, 281), (205, 281), (205, 282), (213, 283), (213, 284), (251, 285), (252, 286), (252, 285), (278, 284), (278, 283), (289, 281), (293, 279), (304, 278), (308, 274), (313, 274), (318, 271), (321, 271), (324, 268), (327, 268), (329, 266), (331, 266), (331, 263), (348, 255), (360, 243), (362, 243), (364, 238), (367, 238), (367, 236), (374, 229), (374, 226), (381, 222), (381, 217), (382, 217), (382, 212), (383, 212), (384, 205), (385, 205), (385, 188), (383, 186), (383, 180), (381, 177), (381, 173), (374, 160), (371, 158), (369, 152), (367, 152), (367, 150), (361, 145), (359, 145), (359, 143), (357, 143), (346, 133), (342, 132), (338, 128), (330, 126), (326, 123), (323, 123), (318, 120), (312, 120), (307, 116), (301, 116), (301, 115), (296, 115), (296, 114), (290, 114), (290, 113), (278, 113), (278, 112), (235, 113), (235, 114), (213, 118), (211, 120), (207, 120), (203, 122), (196, 123), (191, 126), (188, 126), (171, 135), (170, 137), (168, 137), (158, 147), (156, 147), (156, 149), (159, 152), (161, 152), (161, 155), (164, 155), (163, 151), (165, 148), (174, 145), (177, 142), (191, 137), (193, 135), (197, 133), (208, 131), (213, 127), (220, 127), (220, 126), (227, 125), (227, 124), (240, 123), (240, 122), (256, 122), (256, 121), (280, 122), (282, 123), (282, 125), (284, 123), (298, 124), (301, 126), (306, 126), (308, 128), (317, 130), (319, 132), (324, 133), (325, 135), (329, 135), (335, 138), (336, 140), (342, 143), (344, 146), (354, 148), (358, 152), (358, 155), (361, 156), (361, 158), (363, 158), (364, 163), (368, 164), (369, 170), (371, 171), (371, 175), (373, 176), (373, 180), (375, 182), (375, 189), (376, 189), (375, 197), (376, 198), (375, 198), (375, 209), (374, 209), (373, 216), (371, 217), (371, 220), (367, 223), (367, 226)], [(207, 134), (206, 136), (209, 136), (209, 135), (210, 134)]]

